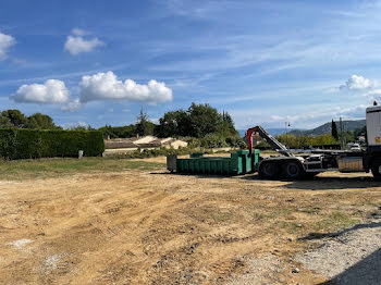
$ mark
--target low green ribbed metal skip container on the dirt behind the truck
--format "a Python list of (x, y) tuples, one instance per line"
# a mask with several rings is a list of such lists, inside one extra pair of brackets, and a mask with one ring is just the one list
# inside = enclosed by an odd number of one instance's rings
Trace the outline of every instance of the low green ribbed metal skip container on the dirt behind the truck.
[(256, 171), (260, 151), (250, 156), (248, 150), (237, 150), (230, 158), (205, 158), (202, 153), (190, 153), (188, 159), (167, 157), (167, 169), (177, 173), (236, 175)]

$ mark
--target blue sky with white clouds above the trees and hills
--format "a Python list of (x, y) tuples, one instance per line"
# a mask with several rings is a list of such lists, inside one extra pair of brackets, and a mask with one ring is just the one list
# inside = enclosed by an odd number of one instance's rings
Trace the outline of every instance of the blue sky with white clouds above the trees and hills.
[(196, 102), (311, 128), (379, 99), (381, 1), (1, 1), (0, 110), (63, 127)]

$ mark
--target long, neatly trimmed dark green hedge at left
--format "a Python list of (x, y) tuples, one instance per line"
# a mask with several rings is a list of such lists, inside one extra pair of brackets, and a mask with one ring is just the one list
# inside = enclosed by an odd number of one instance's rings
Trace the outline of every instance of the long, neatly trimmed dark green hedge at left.
[(78, 150), (86, 157), (100, 156), (105, 151), (102, 132), (0, 129), (0, 157), (4, 159), (77, 157)]

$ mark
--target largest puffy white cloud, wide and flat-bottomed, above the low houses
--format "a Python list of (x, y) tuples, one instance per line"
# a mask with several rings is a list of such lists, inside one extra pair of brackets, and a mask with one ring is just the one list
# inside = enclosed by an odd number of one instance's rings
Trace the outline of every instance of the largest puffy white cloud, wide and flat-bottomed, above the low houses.
[(147, 85), (140, 85), (132, 79), (122, 82), (111, 71), (83, 76), (79, 87), (81, 102), (128, 100), (158, 103), (172, 100), (172, 89), (164, 83), (149, 80)]

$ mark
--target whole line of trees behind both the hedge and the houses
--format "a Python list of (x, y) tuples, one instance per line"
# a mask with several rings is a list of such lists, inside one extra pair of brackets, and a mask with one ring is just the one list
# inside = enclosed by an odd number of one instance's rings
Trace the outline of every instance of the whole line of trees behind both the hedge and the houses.
[[(7, 110), (0, 113), (0, 128), (37, 128), (57, 129), (53, 120), (46, 114), (24, 115), (19, 110)], [(72, 129), (95, 129), (90, 126), (77, 126)], [(150, 122), (147, 113), (140, 109), (136, 122), (125, 126), (105, 125), (98, 128), (105, 138), (128, 138), (155, 135), (158, 137), (183, 138), (194, 147), (245, 147), (244, 140), (234, 127), (228, 112), (219, 112), (209, 104), (192, 103), (188, 109), (170, 111)]]

